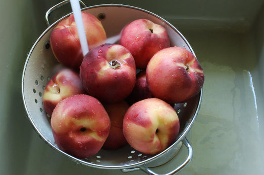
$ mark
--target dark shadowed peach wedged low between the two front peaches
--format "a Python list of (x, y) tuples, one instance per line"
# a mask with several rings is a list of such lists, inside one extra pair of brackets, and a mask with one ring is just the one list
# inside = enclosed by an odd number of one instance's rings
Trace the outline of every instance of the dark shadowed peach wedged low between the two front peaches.
[(127, 145), (123, 134), (123, 118), (129, 105), (125, 101), (121, 101), (115, 104), (105, 104), (104, 107), (110, 118), (111, 128), (103, 148), (118, 149)]

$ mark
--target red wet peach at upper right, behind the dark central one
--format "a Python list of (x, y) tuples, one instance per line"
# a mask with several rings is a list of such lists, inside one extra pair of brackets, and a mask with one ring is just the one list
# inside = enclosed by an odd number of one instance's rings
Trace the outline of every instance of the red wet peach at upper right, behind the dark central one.
[(138, 19), (125, 26), (119, 41), (133, 55), (137, 69), (146, 69), (151, 57), (169, 47), (169, 42), (166, 29), (148, 19)]

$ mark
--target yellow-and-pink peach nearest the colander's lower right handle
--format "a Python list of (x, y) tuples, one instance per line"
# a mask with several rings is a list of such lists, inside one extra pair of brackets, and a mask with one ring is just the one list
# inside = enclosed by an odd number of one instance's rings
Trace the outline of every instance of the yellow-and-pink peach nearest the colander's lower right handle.
[(127, 142), (145, 154), (158, 154), (170, 146), (179, 133), (179, 118), (171, 105), (158, 98), (130, 106), (123, 120)]

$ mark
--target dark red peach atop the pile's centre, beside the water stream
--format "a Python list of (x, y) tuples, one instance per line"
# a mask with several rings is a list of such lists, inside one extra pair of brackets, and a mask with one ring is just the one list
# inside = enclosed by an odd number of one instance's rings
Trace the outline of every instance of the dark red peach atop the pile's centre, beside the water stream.
[(102, 103), (124, 100), (136, 82), (135, 61), (119, 44), (102, 44), (88, 52), (80, 66), (86, 92)]

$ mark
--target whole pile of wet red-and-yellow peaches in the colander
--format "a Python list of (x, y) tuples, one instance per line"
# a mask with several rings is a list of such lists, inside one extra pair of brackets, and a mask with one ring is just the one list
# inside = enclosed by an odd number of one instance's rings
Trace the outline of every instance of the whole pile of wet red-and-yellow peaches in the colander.
[(128, 144), (158, 154), (179, 134), (173, 105), (201, 91), (201, 65), (190, 51), (170, 46), (166, 29), (150, 20), (132, 21), (118, 43), (105, 43), (102, 23), (86, 12), (82, 17), (90, 49), (85, 56), (73, 15), (50, 35), (63, 65), (43, 94), (56, 145), (80, 159)]

